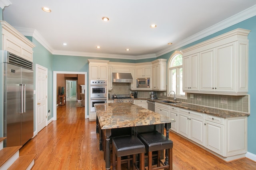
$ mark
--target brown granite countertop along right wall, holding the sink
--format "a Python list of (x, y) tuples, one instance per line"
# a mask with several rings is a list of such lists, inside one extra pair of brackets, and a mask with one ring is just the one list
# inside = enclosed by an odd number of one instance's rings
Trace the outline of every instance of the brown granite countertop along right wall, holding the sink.
[[(136, 98), (135, 100), (148, 100), (150, 102), (158, 102), (161, 104), (167, 104), (161, 101), (164, 101), (166, 99), (150, 99), (150, 98)], [(201, 113), (206, 113), (218, 117), (239, 117), (239, 116), (249, 116), (250, 113), (244, 113), (239, 111), (230, 111), (230, 110), (224, 110), (224, 109), (217, 109), (212, 107), (206, 107), (206, 106), (199, 106), (189, 103), (175, 103), (175, 104), (167, 104), (174, 107), (180, 107), (183, 109), (188, 109), (192, 111), (198, 111)]]

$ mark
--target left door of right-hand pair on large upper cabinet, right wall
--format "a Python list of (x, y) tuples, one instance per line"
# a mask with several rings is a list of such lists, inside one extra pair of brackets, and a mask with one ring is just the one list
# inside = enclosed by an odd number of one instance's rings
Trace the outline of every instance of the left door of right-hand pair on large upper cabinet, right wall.
[(202, 51), (200, 61), (200, 90), (214, 91), (215, 89), (215, 49)]

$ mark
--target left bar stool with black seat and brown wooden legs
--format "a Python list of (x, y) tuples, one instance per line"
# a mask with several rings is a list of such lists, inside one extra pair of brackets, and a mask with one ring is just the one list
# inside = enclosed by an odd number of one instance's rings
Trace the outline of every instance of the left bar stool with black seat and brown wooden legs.
[[(113, 169), (116, 168), (117, 157), (117, 170), (121, 170), (121, 157), (133, 155), (133, 169), (136, 166), (136, 154), (140, 154), (140, 170), (144, 170), (144, 152), (145, 146), (136, 136), (116, 137), (112, 139), (112, 154), (113, 154)], [(129, 164), (129, 161), (128, 161)]]

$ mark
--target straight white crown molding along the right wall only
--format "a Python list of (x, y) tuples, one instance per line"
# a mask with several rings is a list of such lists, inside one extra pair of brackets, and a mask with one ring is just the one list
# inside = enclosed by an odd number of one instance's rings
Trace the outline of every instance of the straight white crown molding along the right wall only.
[(230, 27), (236, 23), (247, 20), (253, 16), (256, 16), (256, 5), (254, 5), (250, 8), (247, 8), (246, 10), (239, 12), (238, 14), (235, 14), (234, 16), (231, 16), (230, 18), (227, 18), (226, 20), (220, 21), (219, 23), (216, 23), (215, 25), (212, 25), (211, 27), (208, 27), (208, 28), (180, 41), (180, 43), (178, 43), (176, 46), (168, 47), (166, 49), (159, 51), (158, 53), (156, 53), (156, 57), (159, 57), (161, 55), (164, 55), (166, 53), (174, 51), (180, 47), (184, 47), (185, 45), (188, 45), (190, 43), (193, 43), (194, 41), (197, 41), (199, 39), (207, 37), (208, 35), (212, 35), (213, 33), (221, 31), (222, 29)]

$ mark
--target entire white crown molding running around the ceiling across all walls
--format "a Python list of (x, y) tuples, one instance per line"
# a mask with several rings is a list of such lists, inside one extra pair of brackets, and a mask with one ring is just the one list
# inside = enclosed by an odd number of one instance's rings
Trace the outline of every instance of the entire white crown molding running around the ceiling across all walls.
[[(8, 0), (0, 0), (0, 2), (2, 2), (2, 1), (8, 1)], [(248, 8), (238, 14), (235, 14), (234, 16), (231, 16), (230, 18), (227, 18), (226, 20), (220, 21), (219, 23), (216, 23), (215, 25), (212, 25), (211, 27), (208, 27), (208, 28), (180, 41), (176, 45), (172, 45), (172, 47), (165, 48), (155, 54), (138, 55), (138, 56), (54, 50), (49, 45), (49, 43), (40, 35), (40, 33), (38, 33), (38, 31), (36, 31), (36, 29), (26, 29), (26, 28), (20, 28), (20, 27), (15, 27), (15, 28), (25, 36), (33, 36), (39, 43), (41, 43), (53, 55), (70, 55), (70, 56), (82, 56), (82, 57), (100, 57), (100, 58), (112, 58), (112, 59), (140, 60), (140, 59), (150, 59), (150, 58), (159, 57), (161, 55), (164, 55), (166, 53), (174, 51), (180, 47), (184, 47), (185, 45), (193, 43), (194, 41), (197, 41), (199, 39), (207, 37), (208, 35), (212, 35), (213, 33), (221, 31), (222, 29), (230, 27), (236, 23), (247, 20), (248, 18), (251, 18), (253, 16), (256, 16), (256, 5)]]

